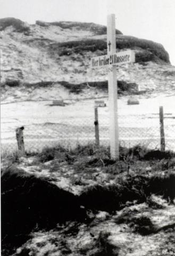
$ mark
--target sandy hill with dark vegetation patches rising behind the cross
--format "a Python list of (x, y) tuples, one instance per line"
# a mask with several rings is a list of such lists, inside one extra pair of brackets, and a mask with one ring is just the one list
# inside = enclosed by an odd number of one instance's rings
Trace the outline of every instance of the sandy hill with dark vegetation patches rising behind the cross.
[[(70, 21), (36, 21), (35, 25), (28, 25), (4, 18), (0, 19), (0, 33), (2, 100), (14, 95), (16, 89), (16, 97), (22, 99), (41, 87), (48, 99), (51, 87), (53, 91), (59, 88), (63, 98), (63, 89), (84, 91), (85, 95), (91, 86), (103, 89), (98, 82), (105, 83), (107, 89), (107, 69), (90, 68), (91, 57), (106, 54), (105, 26)], [(119, 81), (137, 84), (144, 91), (174, 90), (175, 67), (161, 44), (116, 30), (116, 47), (117, 51), (132, 49), (136, 53), (136, 63), (118, 69)], [(25, 93), (28, 96), (24, 97)], [(69, 93), (64, 94), (69, 97)]]

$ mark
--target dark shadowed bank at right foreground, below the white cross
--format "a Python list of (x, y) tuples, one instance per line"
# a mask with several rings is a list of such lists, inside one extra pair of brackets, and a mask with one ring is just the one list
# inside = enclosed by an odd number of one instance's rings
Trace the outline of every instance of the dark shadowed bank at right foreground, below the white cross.
[[(143, 203), (152, 194), (162, 195), (173, 203), (175, 198), (175, 174), (129, 175), (126, 179), (116, 181), (116, 185), (91, 186), (80, 195), (81, 202), (92, 210), (113, 213), (122, 209), (126, 202)], [(93, 198), (93, 200), (91, 199)]]

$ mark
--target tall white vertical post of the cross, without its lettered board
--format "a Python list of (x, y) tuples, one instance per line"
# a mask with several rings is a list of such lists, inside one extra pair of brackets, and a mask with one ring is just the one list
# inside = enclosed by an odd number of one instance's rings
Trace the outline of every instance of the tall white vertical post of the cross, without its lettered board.
[[(107, 16), (107, 54), (116, 53), (115, 14)], [(111, 158), (119, 159), (119, 127), (117, 106), (116, 66), (112, 66), (108, 75), (109, 110), (110, 110), (110, 153)]]

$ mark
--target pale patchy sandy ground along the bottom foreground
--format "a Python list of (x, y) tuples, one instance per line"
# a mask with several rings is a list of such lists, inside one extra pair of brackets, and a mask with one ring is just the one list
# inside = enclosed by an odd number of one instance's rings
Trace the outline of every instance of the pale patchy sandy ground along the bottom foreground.
[[(133, 206), (131, 206), (133, 207)], [(135, 205), (138, 210), (139, 215), (144, 210), (147, 211), (148, 217), (152, 220), (159, 214), (164, 215), (165, 211), (162, 209), (153, 210), (148, 209), (146, 204)], [(128, 210), (130, 207), (128, 207)], [(126, 209), (123, 209), (123, 211)], [(166, 205), (166, 212), (171, 211), (171, 217), (166, 217), (167, 220), (171, 223), (174, 223), (172, 217), (174, 218), (174, 206)], [(100, 214), (102, 215), (102, 214)], [(106, 218), (105, 218), (106, 215)], [(27, 248), (29, 251), (35, 252), (35, 255), (40, 256), (43, 254), (49, 255), (62, 255), (61, 250), (62, 246), (59, 244), (62, 239), (66, 241), (66, 249), (69, 248), (69, 255), (95, 255), (93, 250), (97, 249), (97, 239), (101, 232), (110, 233), (110, 236), (107, 238), (107, 241), (110, 244), (114, 245), (115, 248), (119, 249), (118, 254), (120, 256), (147, 256), (147, 255), (174, 255), (170, 254), (156, 254), (159, 251), (161, 245), (167, 243), (169, 233), (159, 232), (157, 234), (150, 234), (147, 236), (142, 236), (138, 233), (132, 233), (131, 229), (125, 223), (115, 223), (115, 216), (109, 216), (109, 214), (104, 214), (104, 219), (99, 217), (99, 213), (96, 214), (94, 221), (89, 225), (82, 224), (76, 226), (75, 223), (66, 223), (65, 229), (69, 230), (71, 227), (74, 227), (74, 230), (77, 228), (77, 234), (71, 234), (71, 231), (63, 232), (64, 227), (60, 227), (59, 230), (49, 230), (49, 231), (40, 231), (32, 233), (32, 238), (22, 247), (17, 249), (17, 255), (22, 250)], [(166, 225), (163, 221), (160, 223), (160, 227)], [(69, 227), (70, 225), (70, 227)], [(75, 228), (76, 227), (76, 228)], [(52, 241), (58, 241), (54, 243)], [(65, 243), (63, 244), (65, 249)], [(15, 255), (16, 255), (15, 254)]]

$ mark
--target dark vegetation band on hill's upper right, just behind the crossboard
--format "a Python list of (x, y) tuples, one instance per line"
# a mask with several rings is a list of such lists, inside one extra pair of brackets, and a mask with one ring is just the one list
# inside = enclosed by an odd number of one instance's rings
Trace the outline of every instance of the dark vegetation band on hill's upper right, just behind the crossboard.
[[(54, 44), (53, 44), (54, 45)], [(106, 41), (104, 39), (84, 39), (59, 43), (59, 55), (70, 55), (72, 53), (83, 53), (84, 51), (104, 51), (106, 54)], [(157, 61), (157, 59), (170, 63), (169, 54), (161, 44), (146, 39), (139, 39), (131, 36), (116, 36), (116, 49), (137, 50), (136, 62)], [(138, 51), (139, 50), (139, 51)], [(69, 53), (69, 54), (68, 54)]]

